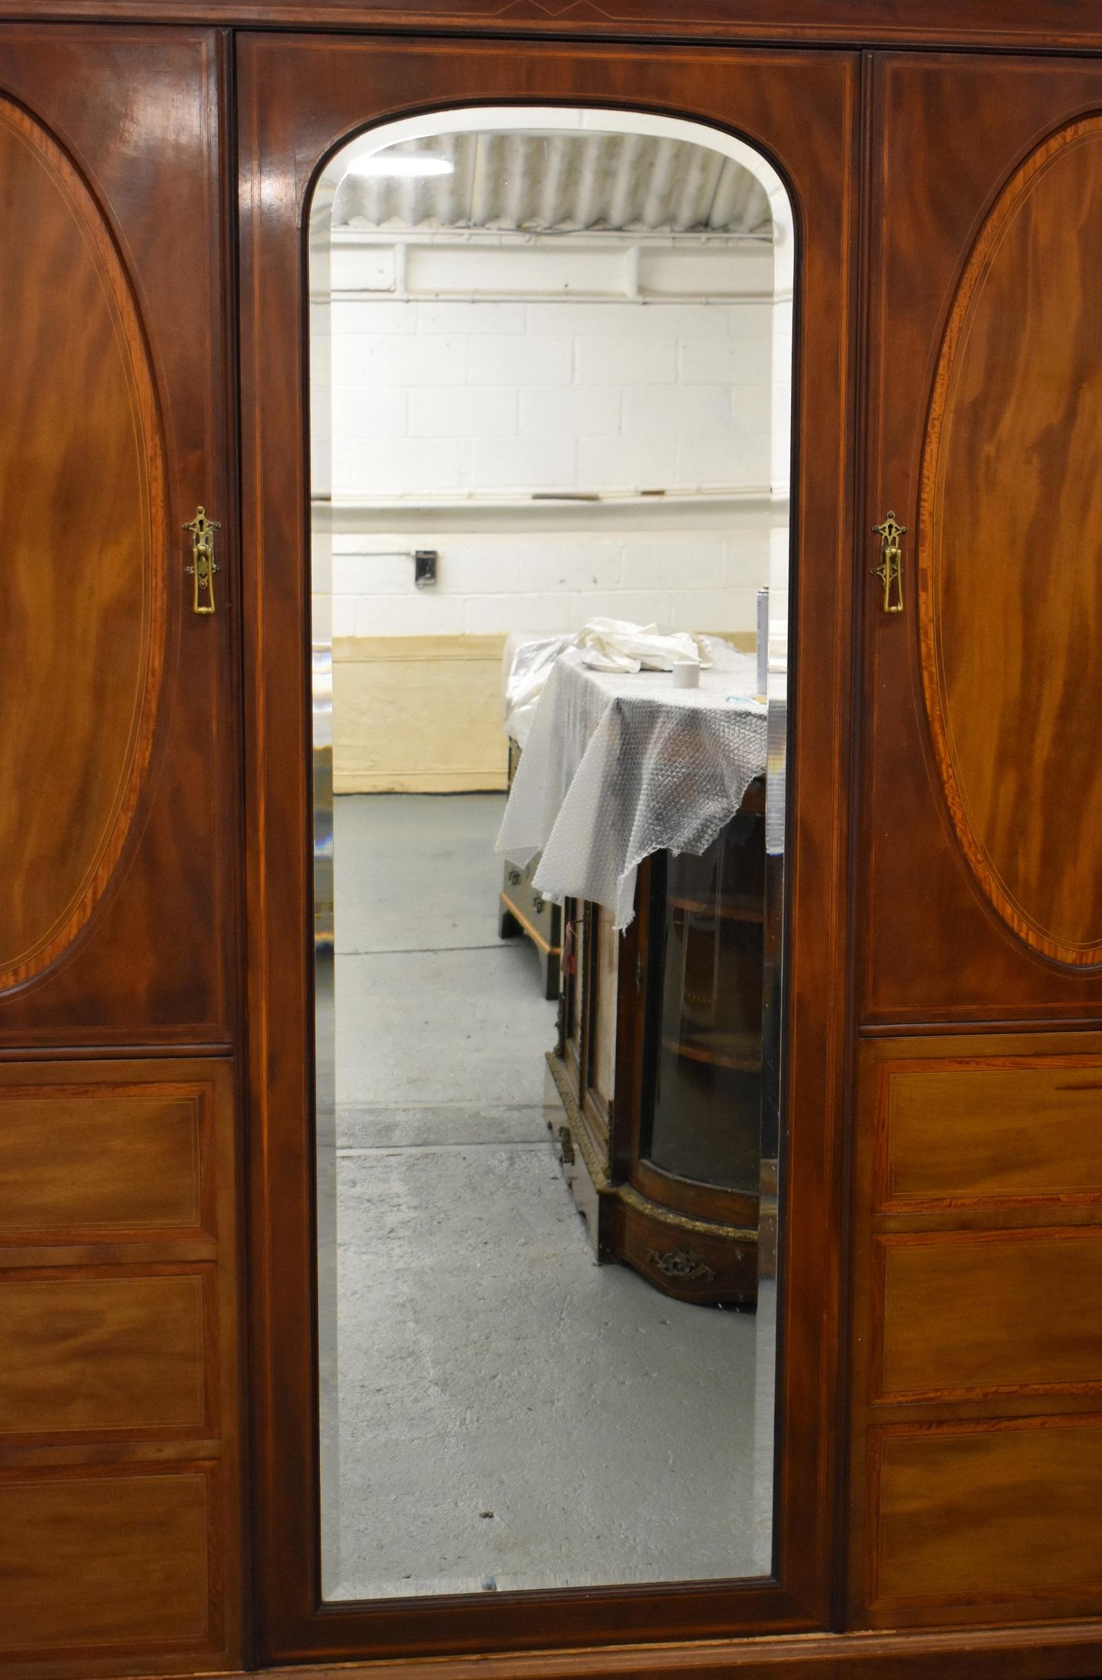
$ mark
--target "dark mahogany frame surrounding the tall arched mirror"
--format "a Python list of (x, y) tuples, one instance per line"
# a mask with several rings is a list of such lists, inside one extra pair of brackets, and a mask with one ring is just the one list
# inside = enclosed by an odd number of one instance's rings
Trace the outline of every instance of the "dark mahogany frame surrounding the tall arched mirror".
[[(835, 50), (239, 39), (254, 1532), (267, 1662), (600, 1646), (830, 1625), (848, 1050), (857, 82), (857, 57)], [(737, 104), (737, 133), (771, 158), (796, 213), (793, 1142), (778, 1393), (779, 1579), (321, 1604), (307, 941), (307, 203), (323, 163), (354, 133), (472, 102), (618, 104), (729, 133)], [(801, 704), (805, 692), (810, 699)]]

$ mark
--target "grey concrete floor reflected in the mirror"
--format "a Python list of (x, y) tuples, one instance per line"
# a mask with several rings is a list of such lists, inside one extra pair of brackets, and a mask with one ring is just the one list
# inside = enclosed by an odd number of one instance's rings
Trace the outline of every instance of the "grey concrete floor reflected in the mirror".
[(768, 1572), (773, 1304), (593, 1263), (543, 1114), (554, 1005), (496, 931), (502, 805), (336, 801), (326, 1596)]

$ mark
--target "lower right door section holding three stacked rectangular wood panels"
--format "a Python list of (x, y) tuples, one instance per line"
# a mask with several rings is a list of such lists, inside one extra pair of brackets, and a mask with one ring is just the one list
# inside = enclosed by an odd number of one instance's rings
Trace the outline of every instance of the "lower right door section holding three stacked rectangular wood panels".
[(1102, 1520), (1082, 1495), (1102, 1452), (1100, 1057), (1097, 1032), (860, 1045), (850, 1626), (1102, 1606), (1082, 1562)]

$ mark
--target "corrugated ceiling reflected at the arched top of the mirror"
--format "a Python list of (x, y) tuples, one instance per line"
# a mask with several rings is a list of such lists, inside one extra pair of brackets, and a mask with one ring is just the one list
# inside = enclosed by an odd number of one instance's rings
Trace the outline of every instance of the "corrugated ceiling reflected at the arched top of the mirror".
[[(462, 133), (401, 141), (452, 175), (346, 175), (334, 225), (533, 234), (741, 234), (768, 239), (769, 200), (749, 170), (706, 146), (653, 134)], [(376, 155), (378, 156), (378, 155)]]

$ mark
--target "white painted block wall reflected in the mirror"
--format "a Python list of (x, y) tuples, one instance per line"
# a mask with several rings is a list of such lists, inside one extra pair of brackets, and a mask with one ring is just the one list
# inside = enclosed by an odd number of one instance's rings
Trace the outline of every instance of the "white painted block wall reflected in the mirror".
[[(774, 422), (790, 380), (774, 376), (773, 343), (791, 328), (768, 302), (363, 297), (336, 301), (329, 324), (338, 499), (763, 491), (786, 474)], [(675, 517), (667, 504), (659, 531), (564, 534), (526, 507), (512, 533), (449, 533), (435, 517), (423, 534), (407, 521), (336, 536), (334, 635), (551, 633), (596, 613), (753, 630), (776, 521), (737, 504), (714, 529)], [(440, 551), (435, 590), (381, 553), (413, 548)], [(776, 554), (774, 538), (774, 581)]]

